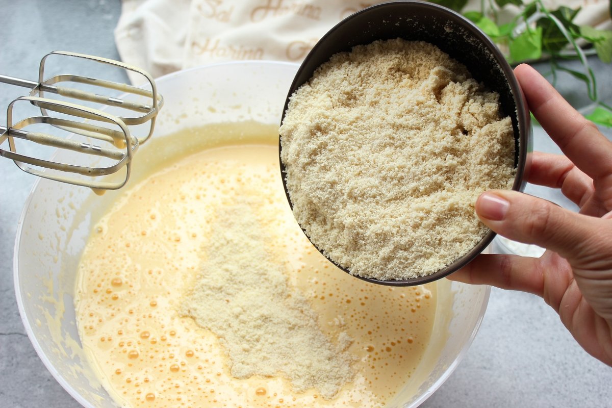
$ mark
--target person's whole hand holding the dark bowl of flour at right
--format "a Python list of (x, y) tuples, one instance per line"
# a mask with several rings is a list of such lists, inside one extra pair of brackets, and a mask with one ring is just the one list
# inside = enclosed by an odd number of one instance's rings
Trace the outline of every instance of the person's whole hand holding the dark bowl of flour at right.
[(517, 191), (486, 191), (476, 201), (483, 223), (547, 251), (540, 258), (480, 254), (449, 279), (543, 297), (584, 350), (612, 365), (612, 142), (529, 65), (515, 75), (565, 154), (534, 153), (529, 182), (561, 188), (580, 213)]

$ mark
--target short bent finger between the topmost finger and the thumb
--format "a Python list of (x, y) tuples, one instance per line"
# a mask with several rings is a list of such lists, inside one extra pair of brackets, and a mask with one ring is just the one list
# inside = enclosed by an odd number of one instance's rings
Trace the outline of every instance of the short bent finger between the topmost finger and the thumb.
[(594, 191), (593, 180), (580, 171), (569, 158), (540, 152), (534, 152), (532, 157), (530, 183), (561, 188), (563, 195), (578, 206), (583, 206), (591, 197)]

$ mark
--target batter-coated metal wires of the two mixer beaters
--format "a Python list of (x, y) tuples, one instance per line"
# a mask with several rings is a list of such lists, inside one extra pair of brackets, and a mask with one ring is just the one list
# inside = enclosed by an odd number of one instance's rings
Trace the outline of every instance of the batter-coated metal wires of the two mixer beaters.
[[(151, 90), (125, 83), (72, 74), (56, 75), (45, 80), (45, 64), (51, 56), (79, 58), (139, 73), (146, 79)], [(0, 148), (0, 156), (15, 161), (20, 169), (35, 176), (91, 188), (115, 190), (125, 185), (129, 179), (133, 154), (141, 143), (151, 137), (155, 127), (155, 119), (159, 109), (163, 106), (163, 97), (157, 93), (155, 81), (144, 70), (120, 61), (67, 51), (54, 51), (42, 58), (38, 83), (7, 75), (0, 75), (0, 82), (31, 89), (29, 96), (13, 100), (7, 108), (7, 126), (0, 126), (0, 146), (8, 141), (9, 149)], [(83, 91), (75, 87), (63, 86), (61, 83), (83, 84), (89, 87), (122, 92), (122, 98)], [(48, 94), (59, 95), (68, 100), (49, 98), (47, 97)], [(144, 103), (139, 100), (129, 100), (130, 96), (144, 100)], [(37, 106), (41, 115), (27, 117), (13, 123), (13, 107), (15, 103), (20, 101)], [(114, 109), (113, 112), (119, 112), (119, 114), (106, 113), (100, 109), (81, 105), (83, 102), (95, 103), (100, 105), (100, 108), (110, 106), (111, 109)], [(127, 111), (136, 113), (136, 116), (127, 116)], [(147, 123), (149, 127), (143, 136), (136, 137), (130, 133), (130, 126)], [(50, 134), (31, 131), (34, 125), (41, 124), (51, 125), (51, 128), (61, 129), (71, 133), (71, 135), (66, 137), (59, 136), (60, 132)], [(88, 140), (77, 141), (72, 138), (75, 135), (85, 136)], [(111, 160), (111, 164), (96, 167), (94, 165), (74, 165), (59, 163), (54, 160), (43, 160), (17, 152), (15, 139), (70, 150), (92, 157), (103, 157)], [(93, 139), (93, 141), (90, 143), (89, 139)], [(99, 142), (96, 142), (96, 140)], [(100, 146), (100, 144), (108, 144), (110, 147)], [(106, 177), (115, 174), (122, 168), (126, 170), (125, 177), (122, 179)], [(53, 171), (47, 171), (47, 169)], [(77, 174), (83, 177), (76, 177)]]

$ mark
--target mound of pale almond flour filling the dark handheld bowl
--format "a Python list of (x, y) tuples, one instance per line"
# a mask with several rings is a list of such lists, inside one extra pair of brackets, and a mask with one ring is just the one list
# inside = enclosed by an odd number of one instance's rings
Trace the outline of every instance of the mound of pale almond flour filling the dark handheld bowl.
[(297, 222), (327, 258), (378, 280), (426, 276), (488, 229), (482, 191), (511, 188), (499, 95), (430, 43), (356, 46), (290, 98), (281, 160)]

